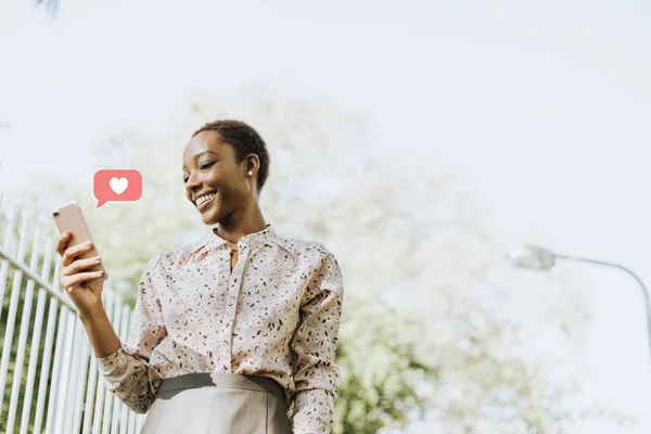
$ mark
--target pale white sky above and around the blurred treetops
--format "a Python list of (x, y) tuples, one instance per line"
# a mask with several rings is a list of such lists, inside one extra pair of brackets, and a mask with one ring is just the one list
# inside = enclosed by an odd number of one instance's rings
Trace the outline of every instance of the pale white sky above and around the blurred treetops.
[[(291, 82), (358, 107), (379, 152), (436, 148), (484, 196), (505, 245), (618, 261), (651, 285), (651, 3), (173, 4), (62, 0), (51, 21), (30, 1), (0, 3), (2, 190), (86, 157), (116, 126), (154, 128), (192, 90)], [(651, 432), (639, 289), (563, 268), (592, 292), (577, 369), (640, 419), (576, 433)]]

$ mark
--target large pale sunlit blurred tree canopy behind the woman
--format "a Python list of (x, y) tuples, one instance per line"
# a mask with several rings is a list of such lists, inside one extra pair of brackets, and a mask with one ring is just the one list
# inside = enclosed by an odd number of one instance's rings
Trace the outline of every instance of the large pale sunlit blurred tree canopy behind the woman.
[(342, 264), (335, 433), (405, 427), (425, 411), (452, 434), (564, 432), (570, 391), (552, 388), (516, 354), (518, 324), (490, 306), (490, 276), (508, 271), (487, 217), (431, 155), (375, 149), (352, 111), (283, 91), (191, 101), (178, 125), (126, 128), (98, 145), (98, 166), (142, 173), (139, 202), (93, 212), (86, 186), (36, 193), (51, 205), (77, 199), (123, 293), (132, 299), (146, 259), (205, 231), (182, 191), (190, 135), (218, 117), (243, 118), (270, 146), (267, 219), (283, 234), (324, 242)]

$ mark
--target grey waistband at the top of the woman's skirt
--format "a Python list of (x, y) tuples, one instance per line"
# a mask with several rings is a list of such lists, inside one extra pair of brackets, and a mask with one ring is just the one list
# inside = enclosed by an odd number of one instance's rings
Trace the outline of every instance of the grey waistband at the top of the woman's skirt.
[(189, 373), (170, 379), (163, 379), (156, 392), (156, 398), (169, 399), (182, 391), (199, 387), (240, 388), (254, 392), (268, 392), (282, 401), (285, 400), (283, 388), (266, 376), (243, 375), (227, 372)]

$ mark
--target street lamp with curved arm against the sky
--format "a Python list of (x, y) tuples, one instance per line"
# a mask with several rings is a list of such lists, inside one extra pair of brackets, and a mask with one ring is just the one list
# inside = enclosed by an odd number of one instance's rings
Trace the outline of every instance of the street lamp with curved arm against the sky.
[(651, 302), (649, 299), (649, 291), (647, 290), (647, 286), (644, 286), (644, 283), (642, 283), (642, 280), (635, 272), (633, 272), (628, 268), (621, 266), (618, 264), (608, 263), (608, 261), (598, 260), (598, 259), (590, 259), (590, 258), (585, 258), (585, 257), (578, 257), (578, 256), (559, 255), (557, 253), (548, 251), (547, 248), (532, 246), (532, 245), (511, 252), (511, 254), (509, 255), (509, 258), (510, 258), (511, 263), (516, 267), (535, 269), (535, 270), (546, 270), (547, 271), (547, 270), (550, 270), (551, 268), (553, 268), (553, 266), (557, 264), (557, 261), (563, 260), (563, 259), (569, 259), (569, 260), (575, 260), (575, 261), (579, 261), (579, 263), (603, 265), (607, 267), (617, 268), (622, 271), (627, 272), (629, 276), (631, 276), (638, 282), (640, 289), (642, 290), (642, 294), (644, 296), (644, 311), (647, 314), (647, 335), (648, 335), (647, 337), (649, 339), (649, 353), (651, 354)]

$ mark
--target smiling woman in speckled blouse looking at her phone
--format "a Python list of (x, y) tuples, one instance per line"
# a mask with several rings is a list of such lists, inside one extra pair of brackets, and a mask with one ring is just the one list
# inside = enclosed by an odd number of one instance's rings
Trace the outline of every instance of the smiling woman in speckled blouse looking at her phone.
[[(276, 234), (258, 196), (269, 170), (248, 125), (202, 127), (183, 152), (190, 202), (213, 233), (153, 257), (122, 343), (102, 306), (100, 257), (66, 248), (59, 276), (78, 309), (107, 387), (145, 434), (329, 433), (342, 275), (322, 244)], [(162, 234), (163, 237), (169, 234)]]

